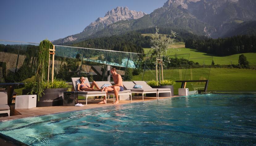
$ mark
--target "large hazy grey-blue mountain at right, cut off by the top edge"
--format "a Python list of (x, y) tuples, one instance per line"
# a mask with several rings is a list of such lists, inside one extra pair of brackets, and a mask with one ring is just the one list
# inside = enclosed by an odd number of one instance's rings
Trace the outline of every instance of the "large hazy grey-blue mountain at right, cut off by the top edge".
[(244, 21), (256, 20), (255, 0), (168, 0), (140, 19), (108, 25), (92, 37), (149, 27), (185, 29), (198, 35), (222, 37)]

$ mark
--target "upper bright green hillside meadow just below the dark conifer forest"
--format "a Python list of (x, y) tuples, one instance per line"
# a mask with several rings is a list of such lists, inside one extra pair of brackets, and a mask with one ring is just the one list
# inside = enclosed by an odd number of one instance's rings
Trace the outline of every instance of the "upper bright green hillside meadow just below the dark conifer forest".
[[(178, 48), (178, 46), (182, 45), (183, 42), (178, 42), (174, 45), (174, 48)], [(183, 43), (184, 44), (184, 43)], [(185, 47), (185, 45), (184, 45)], [(150, 48), (144, 48), (144, 52), (147, 53)], [(170, 49), (171, 50), (171, 49)], [(210, 65), (212, 63), (212, 59), (215, 62), (215, 65), (230, 65), (231, 61), (232, 64), (238, 64), (238, 57), (241, 54), (234, 54), (230, 56), (216, 56), (209, 53), (199, 52), (195, 49), (191, 48), (178, 48), (178, 51), (168, 52), (168, 55), (178, 55), (178, 54), (187, 54), (182, 55), (183, 58), (192, 60), (194, 62), (198, 62), (199, 64)], [(250, 66), (252, 68), (256, 68), (256, 53), (243, 53), (247, 60), (250, 62)]]

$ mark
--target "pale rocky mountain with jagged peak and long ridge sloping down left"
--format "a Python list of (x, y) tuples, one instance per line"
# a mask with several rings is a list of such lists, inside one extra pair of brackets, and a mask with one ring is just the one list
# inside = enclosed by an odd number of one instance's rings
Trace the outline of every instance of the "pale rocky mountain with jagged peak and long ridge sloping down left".
[(146, 15), (144, 12), (137, 12), (135, 10), (129, 10), (128, 7), (116, 7), (106, 13), (104, 17), (99, 17), (94, 22), (90, 23), (85, 29), (75, 35), (67, 36), (63, 39), (54, 40), (52, 41), (53, 44), (68, 44), (75, 40), (82, 40), (97, 31), (102, 30), (103, 28), (107, 27), (112, 23), (116, 23), (121, 20), (133, 20), (139, 19)]

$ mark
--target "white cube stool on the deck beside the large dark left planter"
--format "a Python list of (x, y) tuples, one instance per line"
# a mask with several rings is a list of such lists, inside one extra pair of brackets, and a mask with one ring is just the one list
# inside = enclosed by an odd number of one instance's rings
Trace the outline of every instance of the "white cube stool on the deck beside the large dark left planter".
[(36, 107), (36, 95), (16, 96), (15, 109), (30, 109)]

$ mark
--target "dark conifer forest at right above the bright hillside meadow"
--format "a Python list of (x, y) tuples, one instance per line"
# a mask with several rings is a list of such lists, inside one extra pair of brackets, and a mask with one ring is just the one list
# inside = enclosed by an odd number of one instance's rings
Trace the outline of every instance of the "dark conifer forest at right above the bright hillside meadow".
[(185, 42), (185, 47), (220, 56), (256, 52), (256, 36), (237, 35), (207, 40), (188, 39)]

